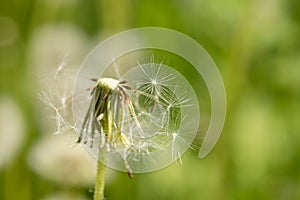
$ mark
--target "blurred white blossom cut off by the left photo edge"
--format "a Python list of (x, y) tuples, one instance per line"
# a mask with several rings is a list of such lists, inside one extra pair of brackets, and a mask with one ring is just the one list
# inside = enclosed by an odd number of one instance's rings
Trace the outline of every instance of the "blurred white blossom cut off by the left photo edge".
[(25, 123), (18, 105), (8, 97), (0, 96), (0, 169), (11, 162), (20, 150)]

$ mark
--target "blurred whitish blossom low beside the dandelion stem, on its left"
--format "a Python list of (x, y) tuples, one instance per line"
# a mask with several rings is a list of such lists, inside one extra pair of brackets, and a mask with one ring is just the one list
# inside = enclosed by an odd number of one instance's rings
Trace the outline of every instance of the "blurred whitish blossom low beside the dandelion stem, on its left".
[(69, 134), (48, 135), (31, 149), (29, 166), (39, 175), (67, 186), (92, 186), (96, 160)]

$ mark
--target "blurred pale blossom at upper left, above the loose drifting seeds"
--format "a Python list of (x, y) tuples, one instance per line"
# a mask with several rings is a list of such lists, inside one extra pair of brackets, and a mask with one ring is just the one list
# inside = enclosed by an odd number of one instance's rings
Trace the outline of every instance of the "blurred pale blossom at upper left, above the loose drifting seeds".
[(77, 69), (87, 53), (87, 38), (69, 24), (46, 25), (36, 29), (29, 41), (32, 74), (56, 77), (63, 69)]

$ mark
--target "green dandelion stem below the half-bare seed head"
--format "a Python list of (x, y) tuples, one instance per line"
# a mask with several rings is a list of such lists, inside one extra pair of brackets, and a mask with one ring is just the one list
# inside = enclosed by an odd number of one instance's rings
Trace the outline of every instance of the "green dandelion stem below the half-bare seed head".
[(94, 200), (104, 199), (105, 173), (106, 173), (105, 164), (103, 164), (100, 160), (98, 160)]

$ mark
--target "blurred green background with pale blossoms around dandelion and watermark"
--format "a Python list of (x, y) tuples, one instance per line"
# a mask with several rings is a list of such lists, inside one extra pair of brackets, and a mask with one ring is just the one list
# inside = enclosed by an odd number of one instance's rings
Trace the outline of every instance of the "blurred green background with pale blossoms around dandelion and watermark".
[(48, 69), (76, 69), (101, 40), (143, 26), (183, 32), (209, 52), (227, 120), (203, 160), (189, 151), (183, 165), (134, 180), (109, 171), (107, 199), (300, 199), (299, 2), (1, 1), (0, 199), (92, 198), (94, 162), (49, 136), (38, 85)]

